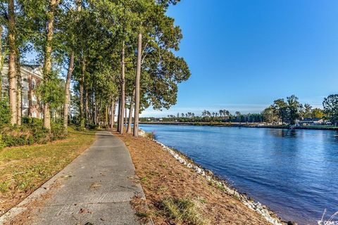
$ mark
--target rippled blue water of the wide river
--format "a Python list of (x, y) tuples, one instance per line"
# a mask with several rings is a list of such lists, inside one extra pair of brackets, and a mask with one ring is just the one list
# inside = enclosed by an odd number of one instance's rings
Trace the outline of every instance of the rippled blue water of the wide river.
[[(156, 139), (228, 179), (284, 220), (338, 211), (338, 132), (145, 125)], [(338, 219), (337, 219), (338, 220)]]

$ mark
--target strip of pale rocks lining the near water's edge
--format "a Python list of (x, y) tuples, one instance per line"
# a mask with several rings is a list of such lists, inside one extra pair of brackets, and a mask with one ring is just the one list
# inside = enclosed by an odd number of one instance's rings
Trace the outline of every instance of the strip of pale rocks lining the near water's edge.
[[(140, 130), (139, 135), (146, 137), (146, 132)], [(192, 159), (187, 157), (187, 155), (184, 155), (173, 148), (165, 146), (163, 143), (159, 141), (156, 140), (154, 141), (159, 145), (161, 145), (163, 150), (167, 151), (170, 155), (173, 156), (173, 158), (175, 158), (182, 165), (194, 169), (194, 171), (197, 174), (204, 176), (204, 178), (211, 185), (217, 186), (228, 195), (232, 195), (234, 198), (237, 198), (250, 210), (256, 211), (258, 214), (261, 214), (261, 216), (263, 216), (266, 219), (266, 221), (270, 222), (271, 224), (274, 225), (296, 224), (291, 221), (282, 221), (282, 219), (280, 219), (280, 217), (278, 217), (277, 214), (275, 214), (275, 212), (270, 210), (267, 206), (262, 205), (259, 202), (255, 202), (252, 198), (249, 198), (246, 194), (239, 193), (239, 191), (237, 191), (235, 188), (231, 188), (225, 180), (220, 179), (218, 176), (215, 176), (215, 174), (213, 174), (213, 172), (211, 172), (210, 170), (204, 169), (203, 167), (201, 167), (201, 165), (196, 164)]]

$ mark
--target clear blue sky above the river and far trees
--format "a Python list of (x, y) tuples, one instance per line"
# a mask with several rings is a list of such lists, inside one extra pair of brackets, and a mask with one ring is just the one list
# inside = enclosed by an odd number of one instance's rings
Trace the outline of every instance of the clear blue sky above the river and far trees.
[(168, 15), (192, 76), (177, 105), (142, 116), (258, 113), (291, 94), (321, 107), (338, 93), (337, 0), (182, 0)]

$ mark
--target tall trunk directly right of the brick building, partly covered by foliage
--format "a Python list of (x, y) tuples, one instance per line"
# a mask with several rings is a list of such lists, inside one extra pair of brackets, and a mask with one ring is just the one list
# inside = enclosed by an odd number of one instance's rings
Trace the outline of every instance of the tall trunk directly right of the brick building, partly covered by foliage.
[[(44, 82), (49, 82), (51, 76), (51, 53), (52, 53), (52, 41), (54, 36), (54, 13), (55, 9), (61, 0), (49, 1), (48, 12), (48, 25), (47, 25), (47, 37), (46, 37), (46, 49), (44, 55)], [(51, 112), (49, 103), (44, 103), (44, 127), (51, 129)]]

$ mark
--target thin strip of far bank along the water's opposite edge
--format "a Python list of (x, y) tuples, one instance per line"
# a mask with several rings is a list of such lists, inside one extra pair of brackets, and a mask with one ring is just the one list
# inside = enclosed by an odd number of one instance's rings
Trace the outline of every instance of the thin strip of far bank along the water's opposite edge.
[[(237, 123), (237, 122), (232, 122), (232, 123), (230, 122), (139, 122), (139, 124), (290, 129), (289, 125), (268, 125), (268, 124), (259, 124), (259, 123)], [(293, 129), (317, 129), (317, 130), (338, 131), (338, 127), (329, 127), (329, 126), (320, 126), (320, 125), (294, 127)]]

